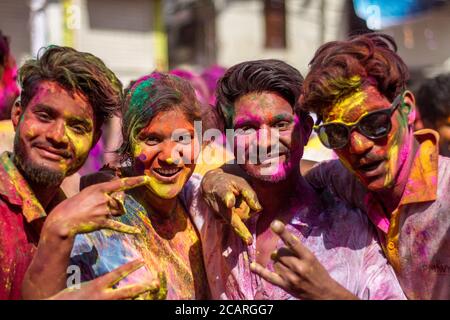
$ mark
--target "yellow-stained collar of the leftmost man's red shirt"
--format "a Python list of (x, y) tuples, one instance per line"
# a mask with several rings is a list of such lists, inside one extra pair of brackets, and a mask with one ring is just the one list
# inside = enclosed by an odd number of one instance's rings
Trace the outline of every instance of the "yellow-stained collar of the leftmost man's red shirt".
[(22, 206), (22, 214), (28, 223), (47, 216), (27, 181), (11, 160), (9, 152), (0, 156), (0, 194), (8, 198), (11, 204)]

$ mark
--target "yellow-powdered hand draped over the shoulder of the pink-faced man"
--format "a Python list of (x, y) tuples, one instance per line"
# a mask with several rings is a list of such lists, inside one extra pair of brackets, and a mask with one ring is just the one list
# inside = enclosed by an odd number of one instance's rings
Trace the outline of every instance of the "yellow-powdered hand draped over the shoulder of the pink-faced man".
[(247, 245), (252, 244), (252, 234), (244, 221), (262, 207), (247, 181), (221, 169), (211, 170), (202, 180), (202, 193), (209, 207), (229, 223)]

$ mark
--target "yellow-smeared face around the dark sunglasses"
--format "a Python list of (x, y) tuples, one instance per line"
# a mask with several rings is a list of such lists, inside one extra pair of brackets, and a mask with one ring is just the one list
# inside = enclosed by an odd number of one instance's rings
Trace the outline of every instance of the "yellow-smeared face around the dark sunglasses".
[[(350, 134), (348, 144), (335, 150), (344, 165), (369, 190), (393, 187), (412, 150), (413, 100), (409, 94), (403, 99), (404, 104), (391, 116), (392, 129), (386, 137), (370, 139), (356, 129)], [(323, 115), (324, 123), (354, 123), (368, 112), (389, 108), (391, 103), (374, 86), (368, 86), (328, 109)]]

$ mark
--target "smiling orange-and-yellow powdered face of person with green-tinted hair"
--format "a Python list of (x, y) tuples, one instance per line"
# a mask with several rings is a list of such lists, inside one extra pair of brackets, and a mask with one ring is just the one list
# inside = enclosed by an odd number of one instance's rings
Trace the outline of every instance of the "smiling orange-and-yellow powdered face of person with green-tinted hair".
[(150, 177), (148, 188), (156, 196), (172, 199), (195, 169), (198, 143), (194, 124), (180, 110), (161, 111), (132, 144), (135, 174)]

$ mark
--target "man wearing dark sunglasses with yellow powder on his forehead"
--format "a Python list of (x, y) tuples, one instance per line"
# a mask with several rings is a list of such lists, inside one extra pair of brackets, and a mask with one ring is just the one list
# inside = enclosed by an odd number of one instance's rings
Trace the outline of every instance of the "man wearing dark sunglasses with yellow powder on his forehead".
[(317, 50), (301, 106), (317, 113), (315, 130), (340, 162), (307, 179), (367, 213), (408, 298), (450, 299), (450, 159), (438, 155), (437, 132), (413, 132), (415, 100), (395, 51), (376, 33)]

